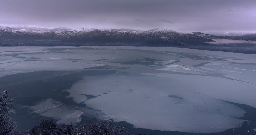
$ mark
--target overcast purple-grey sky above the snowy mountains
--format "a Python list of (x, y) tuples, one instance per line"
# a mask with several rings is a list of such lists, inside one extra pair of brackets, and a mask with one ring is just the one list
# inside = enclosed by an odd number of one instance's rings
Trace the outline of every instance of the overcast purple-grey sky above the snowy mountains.
[(0, 0), (0, 25), (256, 32), (256, 0)]

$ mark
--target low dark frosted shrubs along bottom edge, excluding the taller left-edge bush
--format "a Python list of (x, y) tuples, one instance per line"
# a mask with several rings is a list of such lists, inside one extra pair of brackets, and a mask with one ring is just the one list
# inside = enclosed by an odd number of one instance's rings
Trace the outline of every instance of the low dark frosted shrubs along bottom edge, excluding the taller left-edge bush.
[(58, 124), (53, 120), (42, 120), (28, 132), (17, 135), (126, 135), (126, 128), (118, 123), (91, 122), (73, 127), (72, 124)]

